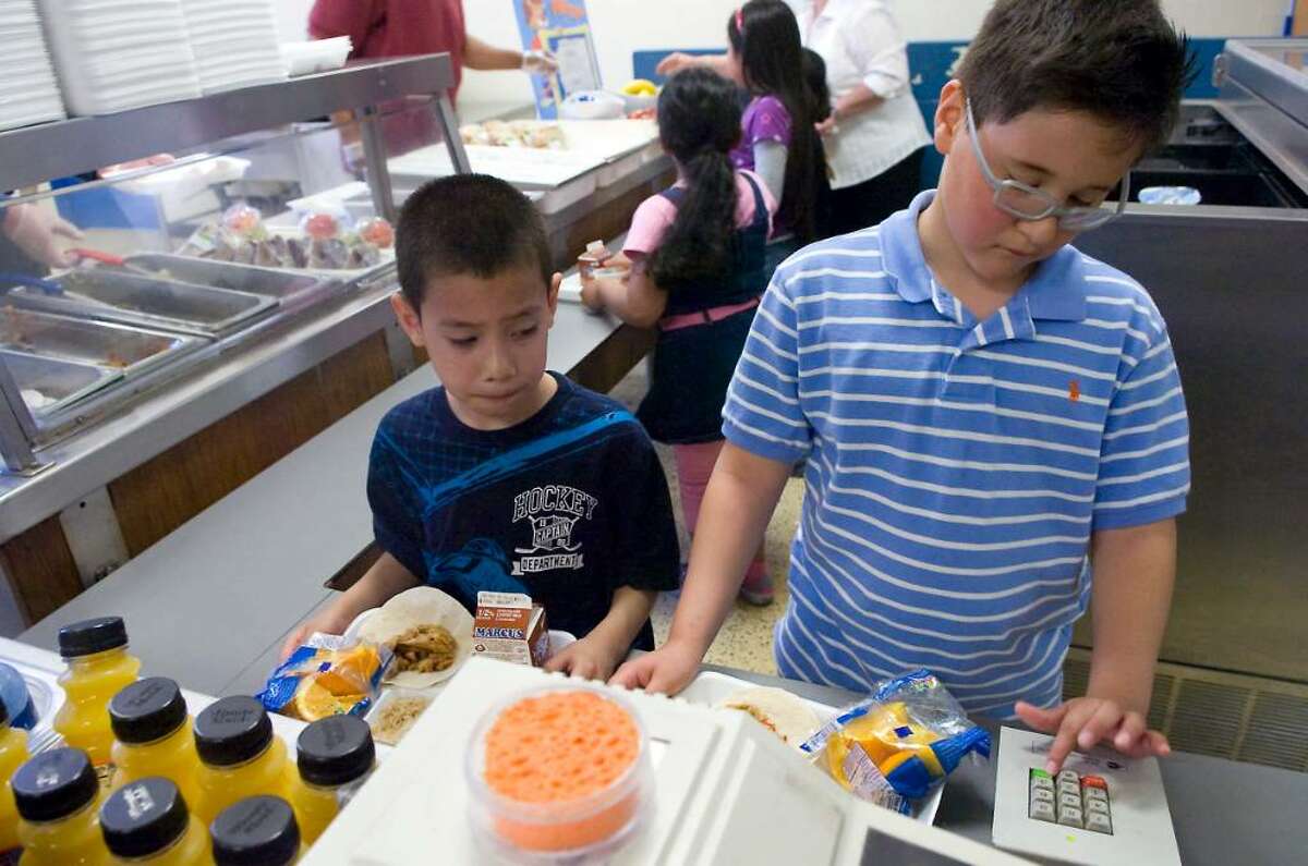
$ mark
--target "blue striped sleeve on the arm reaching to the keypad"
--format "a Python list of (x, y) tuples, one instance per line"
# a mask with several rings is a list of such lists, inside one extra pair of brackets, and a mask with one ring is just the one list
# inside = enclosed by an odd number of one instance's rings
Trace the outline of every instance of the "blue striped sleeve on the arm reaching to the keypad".
[(1190, 425), (1165, 330), (1142, 344), (1108, 409), (1095, 487), (1095, 530), (1155, 523), (1185, 510)]

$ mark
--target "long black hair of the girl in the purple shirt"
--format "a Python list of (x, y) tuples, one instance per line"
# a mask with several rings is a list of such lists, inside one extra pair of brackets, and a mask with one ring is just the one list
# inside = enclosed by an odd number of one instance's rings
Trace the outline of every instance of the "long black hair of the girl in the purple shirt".
[[(821, 148), (814, 124), (823, 109), (806, 82), (799, 22), (782, 0), (749, 0), (727, 18), (727, 39), (740, 58), (744, 85), (753, 95), (770, 94), (790, 115), (790, 147), (777, 221), (802, 242), (814, 239), (814, 164)], [(831, 111), (831, 99), (825, 99)]]

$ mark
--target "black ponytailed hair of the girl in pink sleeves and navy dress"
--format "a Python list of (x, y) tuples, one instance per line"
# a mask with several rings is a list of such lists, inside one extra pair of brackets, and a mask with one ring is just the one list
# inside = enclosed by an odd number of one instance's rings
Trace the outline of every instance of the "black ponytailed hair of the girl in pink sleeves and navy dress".
[(736, 88), (704, 68), (678, 72), (658, 97), (658, 133), (685, 179), (685, 194), (663, 243), (650, 256), (654, 285), (726, 275), (735, 233), (736, 183), (731, 148), (740, 140)]

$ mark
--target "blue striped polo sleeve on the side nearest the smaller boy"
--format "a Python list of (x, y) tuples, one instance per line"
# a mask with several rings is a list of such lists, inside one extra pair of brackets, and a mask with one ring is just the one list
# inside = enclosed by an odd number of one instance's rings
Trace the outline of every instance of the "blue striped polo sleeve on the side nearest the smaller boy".
[(722, 407), (722, 434), (729, 442), (781, 463), (797, 463), (812, 445), (812, 428), (799, 404), (795, 310), (785, 284), (773, 280), (759, 305)]

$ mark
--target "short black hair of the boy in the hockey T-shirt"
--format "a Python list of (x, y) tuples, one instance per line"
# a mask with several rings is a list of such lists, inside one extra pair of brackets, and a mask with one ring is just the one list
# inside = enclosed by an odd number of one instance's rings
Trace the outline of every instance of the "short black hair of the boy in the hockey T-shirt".
[(485, 174), (454, 174), (420, 186), (400, 209), (395, 263), (404, 300), (421, 311), (438, 276), (490, 279), (506, 268), (539, 268), (548, 289), (549, 241), (536, 207), (513, 184)]

